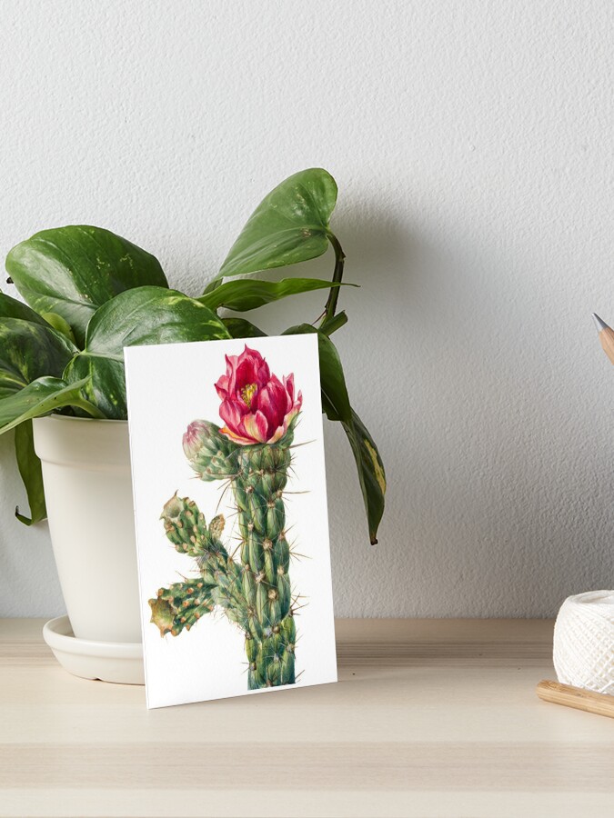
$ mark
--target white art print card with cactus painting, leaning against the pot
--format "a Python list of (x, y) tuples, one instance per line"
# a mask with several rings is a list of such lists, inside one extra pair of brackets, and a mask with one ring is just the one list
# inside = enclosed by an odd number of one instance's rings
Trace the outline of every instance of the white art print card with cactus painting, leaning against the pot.
[(317, 336), (125, 356), (147, 706), (336, 682)]

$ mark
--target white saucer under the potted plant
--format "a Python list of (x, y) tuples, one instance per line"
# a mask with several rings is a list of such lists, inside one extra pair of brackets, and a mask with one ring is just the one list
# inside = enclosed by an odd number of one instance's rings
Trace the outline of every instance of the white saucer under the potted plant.
[(77, 639), (67, 616), (58, 616), (45, 623), (43, 637), (68, 673), (102, 682), (145, 684), (143, 645), (140, 642)]

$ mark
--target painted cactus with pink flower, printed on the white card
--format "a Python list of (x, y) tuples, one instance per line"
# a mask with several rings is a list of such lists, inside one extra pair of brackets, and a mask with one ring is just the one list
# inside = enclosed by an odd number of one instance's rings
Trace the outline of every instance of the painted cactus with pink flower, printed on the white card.
[(248, 689), (293, 684), (297, 629), (284, 492), (302, 394), (295, 396), (292, 374), (279, 381), (247, 345), (240, 355), (226, 355), (216, 390), (225, 425), (195, 420), (183, 446), (202, 480), (232, 487), (240, 563), (222, 543), (224, 517), (207, 525), (193, 500), (175, 494), (161, 519), (176, 551), (196, 560), (198, 575), (160, 588), (149, 600), (151, 621), (162, 636), (176, 636), (221, 609), (245, 634)]

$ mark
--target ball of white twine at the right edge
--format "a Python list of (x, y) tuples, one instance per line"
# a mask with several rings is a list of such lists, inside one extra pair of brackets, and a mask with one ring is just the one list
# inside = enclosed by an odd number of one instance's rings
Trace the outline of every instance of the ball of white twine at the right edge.
[(614, 695), (614, 591), (569, 596), (554, 626), (559, 682)]

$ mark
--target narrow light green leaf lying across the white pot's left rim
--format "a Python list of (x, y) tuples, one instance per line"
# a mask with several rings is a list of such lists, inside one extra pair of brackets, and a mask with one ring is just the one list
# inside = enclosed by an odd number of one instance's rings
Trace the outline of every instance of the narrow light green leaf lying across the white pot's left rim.
[(0, 401), (0, 434), (64, 406), (78, 407), (91, 417), (104, 417), (96, 406), (84, 399), (82, 390), (86, 385), (85, 379), (66, 384), (62, 378), (44, 377), (37, 378), (19, 392), (6, 395)]

